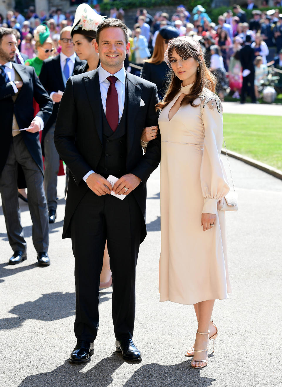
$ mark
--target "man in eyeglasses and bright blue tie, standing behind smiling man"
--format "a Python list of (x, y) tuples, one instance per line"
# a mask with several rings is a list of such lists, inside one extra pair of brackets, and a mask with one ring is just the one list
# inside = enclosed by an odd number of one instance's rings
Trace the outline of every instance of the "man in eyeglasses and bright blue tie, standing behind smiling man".
[(49, 211), (49, 223), (54, 223), (57, 217), (57, 174), (59, 171), (59, 154), (54, 145), (54, 129), (62, 98), (68, 78), (73, 75), (76, 66), (83, 62), (76, 57), (73, 40), (71, 39), (71, 27), (65, 27), (60, 33), (59, 45), (62, 51), (56, 57), (51, 57), (43, 62), (39, 79), (52, 99), (53, 113), (44, 126), (42, 132), (42, 152), (45, 157), (44, 185)]

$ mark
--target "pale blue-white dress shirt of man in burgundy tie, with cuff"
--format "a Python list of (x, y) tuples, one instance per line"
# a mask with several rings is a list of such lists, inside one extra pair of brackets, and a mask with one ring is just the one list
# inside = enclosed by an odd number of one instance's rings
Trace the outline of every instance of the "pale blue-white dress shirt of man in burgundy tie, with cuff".
[[(122, 118), (122, 113), (124, 108), (124, 99), (125, 99), (125, 76), (126, 76), (125, 68), (123, 66), (117, 73), (110, 74), (100, 65), (98, 67), (98, 75), (99, 75), (99, 82), (100, 82), (102, 105), (103, 105), (105, 114), (106, 114), (107, 93), (108, 93), (108, 88), (110, 86), (110, 81), (107, 79), (107, 77), (110, 77), (113, 75), (117, 77), (117, 82), (115, 83), (115, 87), (118, 93), (118, 123), (120, 123), (120, 119)], [(88, 178), (89, 175), (91, 175), (91, 173), (94, 173), (94, 171), (89, 171), (88, 173), (86, 173), (86, 175), (83, 176), (84, 182), (86, 182), (86, 179)]]

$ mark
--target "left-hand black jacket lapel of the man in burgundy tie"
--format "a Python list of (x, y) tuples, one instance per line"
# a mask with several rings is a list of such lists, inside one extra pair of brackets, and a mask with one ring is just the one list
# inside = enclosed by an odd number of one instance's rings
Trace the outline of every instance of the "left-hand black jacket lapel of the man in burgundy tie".
[[(92, 74), (91, 74), (92, 73)], [(101, 144), (103, 142), (103, 124), (102, 124), (102, 100), (100, 91), (100, 82), (98, 70), (93, 70), (83, 77), (84, 86), (89, 99), (91, 110), (94, 117), (95, 127), (98, 132)]]

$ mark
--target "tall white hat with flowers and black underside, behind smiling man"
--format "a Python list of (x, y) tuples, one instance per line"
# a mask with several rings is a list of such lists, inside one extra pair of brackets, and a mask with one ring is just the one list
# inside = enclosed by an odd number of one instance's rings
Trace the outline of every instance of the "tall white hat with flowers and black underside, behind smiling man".
[(81, 34), (95, 39), (97, 27), (104, 19), (106, 19), (106, 16), (98, 15), (90, 5), (80, 4), (75, 12), (71, 37), (74, 34)]

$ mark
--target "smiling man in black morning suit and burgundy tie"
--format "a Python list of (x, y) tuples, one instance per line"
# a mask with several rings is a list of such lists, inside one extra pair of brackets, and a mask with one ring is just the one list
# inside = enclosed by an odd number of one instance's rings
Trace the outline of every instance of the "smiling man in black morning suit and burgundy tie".
[[(116, 350), (140, 360), (132, 341), (135, 270), (146, 236), (146, 182), (160, 161), (160, 137), (143, 155), (142, 130), (157, 125), (157, 87), (125, 71), (128, 30), (106, 19), (96, 31), (97, 70), (69, 78), (54, 141), (70, 170), (63, 238), (75, 257), (77, 345), (69, 361), (88, 361), (99, 325), (98, 296), (105, 242), (113, 277), (112, 312)], [(111, 195), (109, 175), (118, 178)]]

